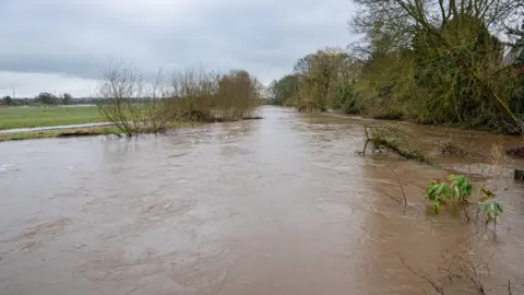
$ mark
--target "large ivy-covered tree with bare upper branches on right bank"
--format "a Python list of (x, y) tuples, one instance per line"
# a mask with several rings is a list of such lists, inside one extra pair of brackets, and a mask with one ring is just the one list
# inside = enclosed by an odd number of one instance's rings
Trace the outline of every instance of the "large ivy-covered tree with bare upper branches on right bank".
[[(511, 68), (502, 64), (502, 30), (520, 0), (357, 0), (354, 44), (365, 64), (359, 91), (368, 106), (422, 122), (495, 127), (510, 109)], [(422, 94), (422, 95), (421, 95)]]

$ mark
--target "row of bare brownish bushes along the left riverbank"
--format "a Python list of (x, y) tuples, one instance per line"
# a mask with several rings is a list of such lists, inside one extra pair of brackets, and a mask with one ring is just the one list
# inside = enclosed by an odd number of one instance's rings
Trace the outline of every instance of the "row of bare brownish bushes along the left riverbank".
[(257, 118), (260, 83), (248, 72), (227, 74), (187, 70), (171, 79), (146, 81), (138, 71), (116, 64), (100, 81), (102, 117), (127, 137), (165, 132), (180, 121), (215, 122)]

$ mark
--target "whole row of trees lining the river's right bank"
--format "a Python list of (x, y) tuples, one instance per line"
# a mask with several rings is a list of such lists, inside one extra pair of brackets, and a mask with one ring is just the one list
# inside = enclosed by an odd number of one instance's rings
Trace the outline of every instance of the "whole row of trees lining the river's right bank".
[(300, 58), (273, 103), (522, 133), (524, 2), (357, 0), (348, 49)]

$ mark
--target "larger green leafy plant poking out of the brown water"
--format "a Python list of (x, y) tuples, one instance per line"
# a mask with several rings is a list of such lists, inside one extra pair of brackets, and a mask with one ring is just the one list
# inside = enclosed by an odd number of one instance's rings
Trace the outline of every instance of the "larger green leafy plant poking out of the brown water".
[(432, 202), (437, 214), (443, 204), (454, 202), (463, 205), (469, 196), (472, 196), (472, 184), (462, 175), (451, 175), (448, 180), (433, 182), (426, 189), (426, 200)]

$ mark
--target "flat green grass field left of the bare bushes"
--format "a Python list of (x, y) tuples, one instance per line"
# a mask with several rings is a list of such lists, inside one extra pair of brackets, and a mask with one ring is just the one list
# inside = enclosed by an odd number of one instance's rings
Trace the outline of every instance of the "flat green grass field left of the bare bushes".
[(100, 121), (96, 106), (0, 107), (0, 130)]

